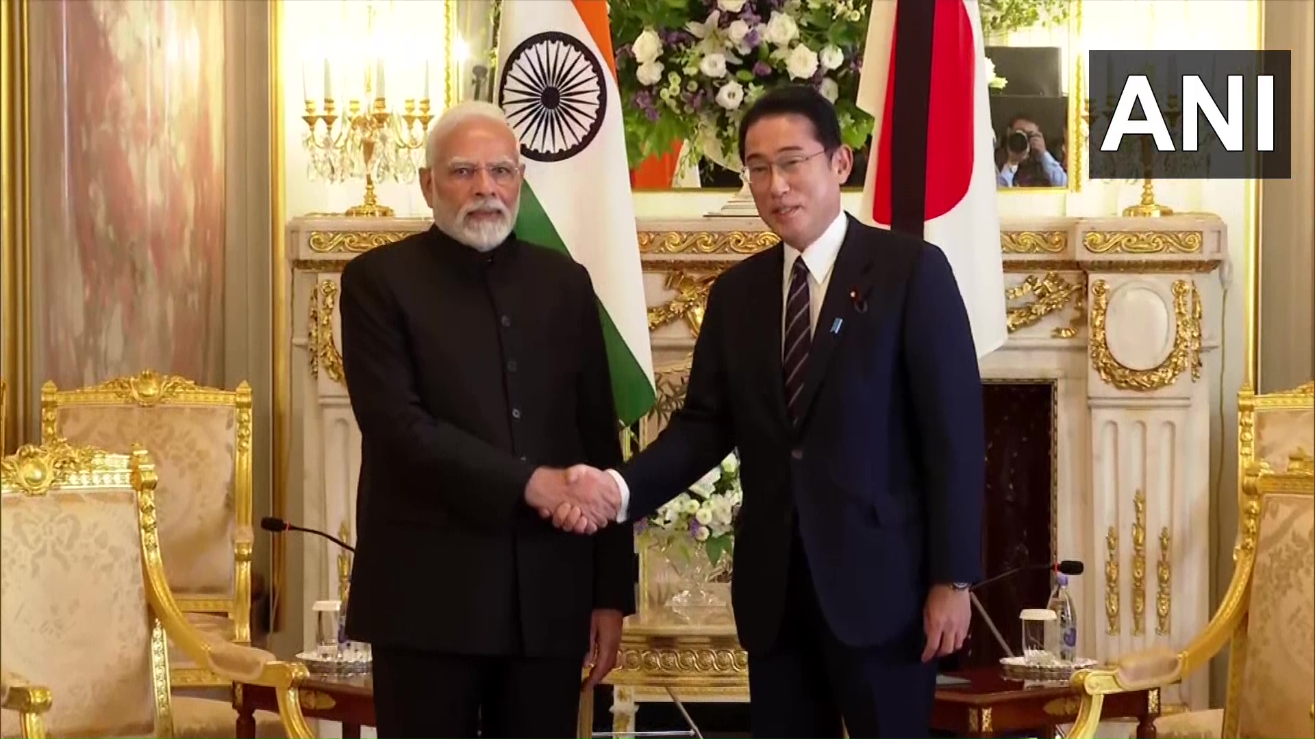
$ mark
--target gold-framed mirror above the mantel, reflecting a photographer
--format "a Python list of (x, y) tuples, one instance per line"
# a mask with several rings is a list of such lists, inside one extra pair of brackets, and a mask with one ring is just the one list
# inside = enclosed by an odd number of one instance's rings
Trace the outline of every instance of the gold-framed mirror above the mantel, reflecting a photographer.
[[(834, 96), (842, 128), (848, 131), (847, 143), (856, 150), (847, 189), (861, 191), (867, 178), (871, 118), (855, 108), (853, 99), (861, 68), (859, 57), (867, 39), (865, 11), (871, 1), (836, 0), (836, 12), (851, 12), (853, 21), (839, 17), (831, 21), (830, 12), (822, 13), (826, 18), (814, 18), (817, 13), (807, 12), (809, 3), (797, 3), (800, 12), (796, 18), (773, 25), (771, 17), (773, 9), (781, 7), (778, 0), (717, 0), (704, 4), (610, 0), (613, 49), (622, 76), (634, 188), (740, 189), (739, 162), (725, 156), (717, 145), (717, 141), (734, 137), (736, 118), (725, 110), (751, 101), (763, 87), (759, 80), (785, 79), (790, 64), (794, 64), (794, 71), (809, 67), (814, 75), (821, 75), (823, 92)], [(690, 8), (697, 8), (698, 13)], [(1080, 89), (1081, 0), (980, 0), (980, 8), (986, 57), (994, 64), (992, 130), (997, 141), (997, 171), (1005, 171), (999, 189), (1076, 189), (1081, 181), (1074, 167), (1078, 147), (1069, 142), (1076, 139), (1076, 124), (1082, 110), (1081, 95), (1072, 93)], [(705, 12), (706, 17), (690, 17), (690, 13)], [(823, 21), (826, 28), (817, 25)], [(646, 29), (656, 29), (656, 33)], [(704, 43), (710, 33), (718, 49), (730, 39), (746, 54), (717, 63), (700, 55), (701, 67), (711, 64), (722, 68), (680, 68), (676, 59), (681, 54), (673, 51)], [(752, 58), (755, 45), (764, 37), (776, 41), (790, 34), (796, 38), (825, 37), (830, 49), (827, 53), (798, 54), (800, 58), (792, 58), (794, 54), (781, 55), (780, 59), (773, 57), (752, 68), (747, 66), (744, 59)], [(719, 76), (722, 74), (725, 76)], [(726, 79), (735, 89), (718, 89), (714, 95), (711, 88), (694, 82), (693, 78), (701, 75)], [(629, 85), (627, 79), (631, 82)], [(668, 95), (698, 97), (700, 105), (713, 112), (701, 117), (714, 124), (696, 126), (689, 120), (669, 120), (660, 114), (660, 96)], [(856, 125), (846, 125), (847, 121)], [(860, 121), (867, 124), (867, 130)], [(1020, 135), (1009, 135), (1015, 131)], [(1009, 145), (1014, 142), (1016, 146), (1019, 141), (1026, 141), (1027, 146), (1022, 153), (1011, 154)]]

